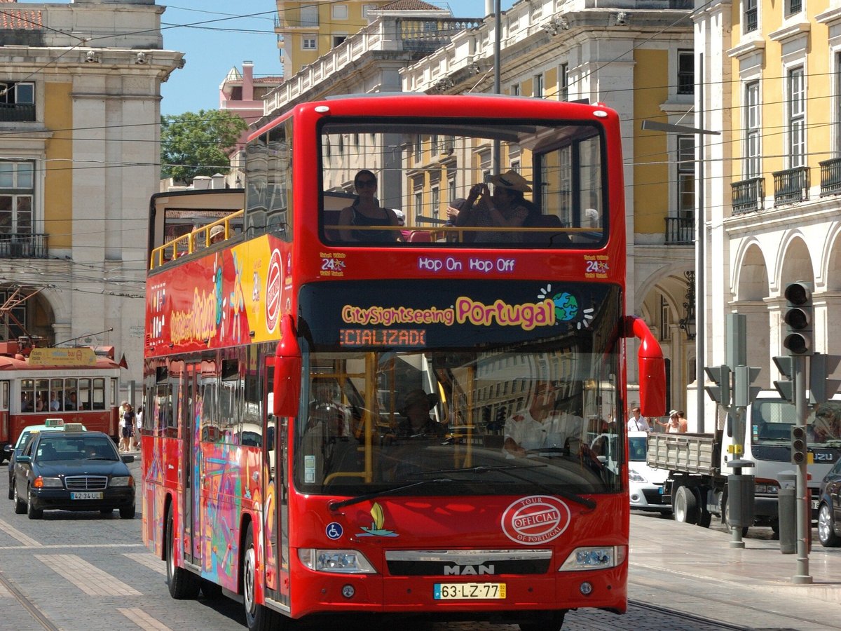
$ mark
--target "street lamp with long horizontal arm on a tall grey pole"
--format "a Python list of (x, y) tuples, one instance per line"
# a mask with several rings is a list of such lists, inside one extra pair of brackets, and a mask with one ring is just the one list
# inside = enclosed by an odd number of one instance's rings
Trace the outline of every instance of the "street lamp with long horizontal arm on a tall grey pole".
[[(703, 76), (703, 73), (701, 73)], [(704, 83), (701, 82), (701, 94), (699, 98), (701, 103), (704, 103), (703, 94)], [(703, 110), (701, 110), (701, 121), (704, 119)], [(655, 120), (643, 120), (643, 130), (665, 131), (669, 134), (686, 134), (698, 136), (698, 159), (696, 160), (696, 172), (698, 180), (698, 209), (695, 216), (695, 380), (696, 388), (696, 415), (698, 419), (698, 432), (704, 432), (704, 389), (701, 386), (701, 379), (704, 379), (704, 342), (706, 337), (706, 312), (705, 312), (705, 296), (706, 296), (706, 279), (704, 278), (704, 246), (706, 244), (706, 218), (704, 213), (704, 162), (706, 161), (706, 151), (704, 144), (704, 135), (721, 135), (720, 131), (699, 130), (695, 127), (687, 127), (685, 125), (673, 125), (671, 123), (658, 123)], [(689, 331), (687, 330), (687, 333)]]

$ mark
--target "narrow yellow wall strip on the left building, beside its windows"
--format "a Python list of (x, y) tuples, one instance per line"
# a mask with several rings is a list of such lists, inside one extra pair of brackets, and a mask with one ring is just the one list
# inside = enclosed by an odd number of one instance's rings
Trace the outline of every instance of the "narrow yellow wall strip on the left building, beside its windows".
[(54, 130), (45, 142), (44, 230), (47, 246), (71, 247), (73, 208), (73, 110), (70, 82), (47, 82), (44, 86), (44, 125)]

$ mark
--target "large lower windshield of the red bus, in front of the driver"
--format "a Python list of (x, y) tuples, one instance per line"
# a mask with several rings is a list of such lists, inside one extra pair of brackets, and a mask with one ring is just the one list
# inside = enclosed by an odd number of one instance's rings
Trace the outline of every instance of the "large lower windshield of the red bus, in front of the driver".
[[(391, 308), (407, 301), (406, 310), (421, 316), (421, 281), (382, 284), (378, 296), (389, 296)], [(595, 305), (587, 324), (570, 316), (520, 331), (511, 343), (502, 326), (458, 319), (336, 331), (331, 313), (346, 319), (354, 313), (346, 300), (369, 314), (372, 302), (384, 302), (365, 300), (373, 285), (368, 292), (363, 283), (353, 285), (320, 284), (302, 293), (309, 379), (295, 428), (300, 490), (350, 496), (397, 487), (413, 495), (621, 490), (618, 288), (564, 286), (558, 304)], [(495, 285), (505, 293), (504, 283)], [(443, 305), (458, 305), (447, 297), (455, 287), (439, 281), (437, 289)], [(489, 291), (462, 293), (478, 304), (488, 302)], [(426, 305), (426, 313), (434, 306)], [(417, 347), (421, 334), (426, 346)]]

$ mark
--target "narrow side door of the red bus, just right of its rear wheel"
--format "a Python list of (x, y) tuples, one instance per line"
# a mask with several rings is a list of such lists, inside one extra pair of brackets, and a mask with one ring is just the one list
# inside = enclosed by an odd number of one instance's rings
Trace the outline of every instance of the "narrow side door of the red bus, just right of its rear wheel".
[(193, 565), (201, 565), (201, 517), (198, 508), (201, 496), (201, 479), (199, 462), (201, 456), (200, 443), (197, 439), (198, 423), (196, 422), (196, 380), (201, 376), (201, 364), (187, 364), (184, 367), (184, 396), (182, 408), (182, 480), (183, 501), (182, 525), (184, 528), (185, 546), (184, 559)]

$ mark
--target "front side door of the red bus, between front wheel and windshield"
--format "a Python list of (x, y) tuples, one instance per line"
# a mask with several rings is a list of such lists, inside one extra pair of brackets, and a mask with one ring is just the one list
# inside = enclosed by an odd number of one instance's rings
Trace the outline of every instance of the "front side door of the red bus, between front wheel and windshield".
[(262, 364), (263, 463), (266, 498), (266, 590), (267, 597), (289, 606), (288, 480), (286, 477), (286, 428), (288, 418), (272, 414), (274, 357)]

